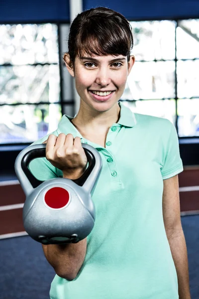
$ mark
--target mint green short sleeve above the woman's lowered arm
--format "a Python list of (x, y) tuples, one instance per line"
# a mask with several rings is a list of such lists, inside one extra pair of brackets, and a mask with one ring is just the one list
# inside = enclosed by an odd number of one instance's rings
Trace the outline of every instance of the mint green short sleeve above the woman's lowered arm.
[(180, 156), (178, 134), (175, 126), (169, 121), (170, 134), (166, 143), (164, 164), (161, 168), (162, 178), (167, 179), (183, 171), (183, 162)]

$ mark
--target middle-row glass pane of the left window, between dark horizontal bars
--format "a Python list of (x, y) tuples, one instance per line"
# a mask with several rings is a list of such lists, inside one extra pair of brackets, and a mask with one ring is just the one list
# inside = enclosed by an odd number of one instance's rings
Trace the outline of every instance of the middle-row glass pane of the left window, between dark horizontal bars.
[(0, 67), (1, 104), (59, 101), (59, 65)]

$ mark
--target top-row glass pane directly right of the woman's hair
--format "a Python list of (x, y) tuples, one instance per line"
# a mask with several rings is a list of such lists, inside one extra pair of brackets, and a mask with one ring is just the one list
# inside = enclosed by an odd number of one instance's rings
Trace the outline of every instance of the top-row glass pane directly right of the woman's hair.
[(136, 60), (175, 58), (175, 21), (130, 22)]

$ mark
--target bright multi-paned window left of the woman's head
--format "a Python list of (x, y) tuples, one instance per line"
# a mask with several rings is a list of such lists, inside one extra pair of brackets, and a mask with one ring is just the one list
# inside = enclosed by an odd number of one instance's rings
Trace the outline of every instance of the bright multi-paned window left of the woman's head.
[(32, 143), (61, 118), (58, 26), (0, 25), (0, 144)]

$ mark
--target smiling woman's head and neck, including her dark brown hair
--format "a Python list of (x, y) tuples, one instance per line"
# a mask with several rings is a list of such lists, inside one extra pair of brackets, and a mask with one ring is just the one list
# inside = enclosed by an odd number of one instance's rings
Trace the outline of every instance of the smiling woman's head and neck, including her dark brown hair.
[[(103, 26), (99, 22), (100, 14), (107, 17), (103, 19)], [(73, 21), (68, 47), (64, 61), (69, 73), (75, 77), (81, 98), (80, 111), (73, 124), (82, 129), (89, 124), (90, 131), (97, 125), (107, 129), (118, 118), (117, 102), (135, 61), (134, 56), (130, 56), (133, 47), (130, 23), (118, 12), (113, 15), (111, 9), (87, 10)], [(97, 111), (103, 112), (103, 116), (92, 124), (91, 115)]]

